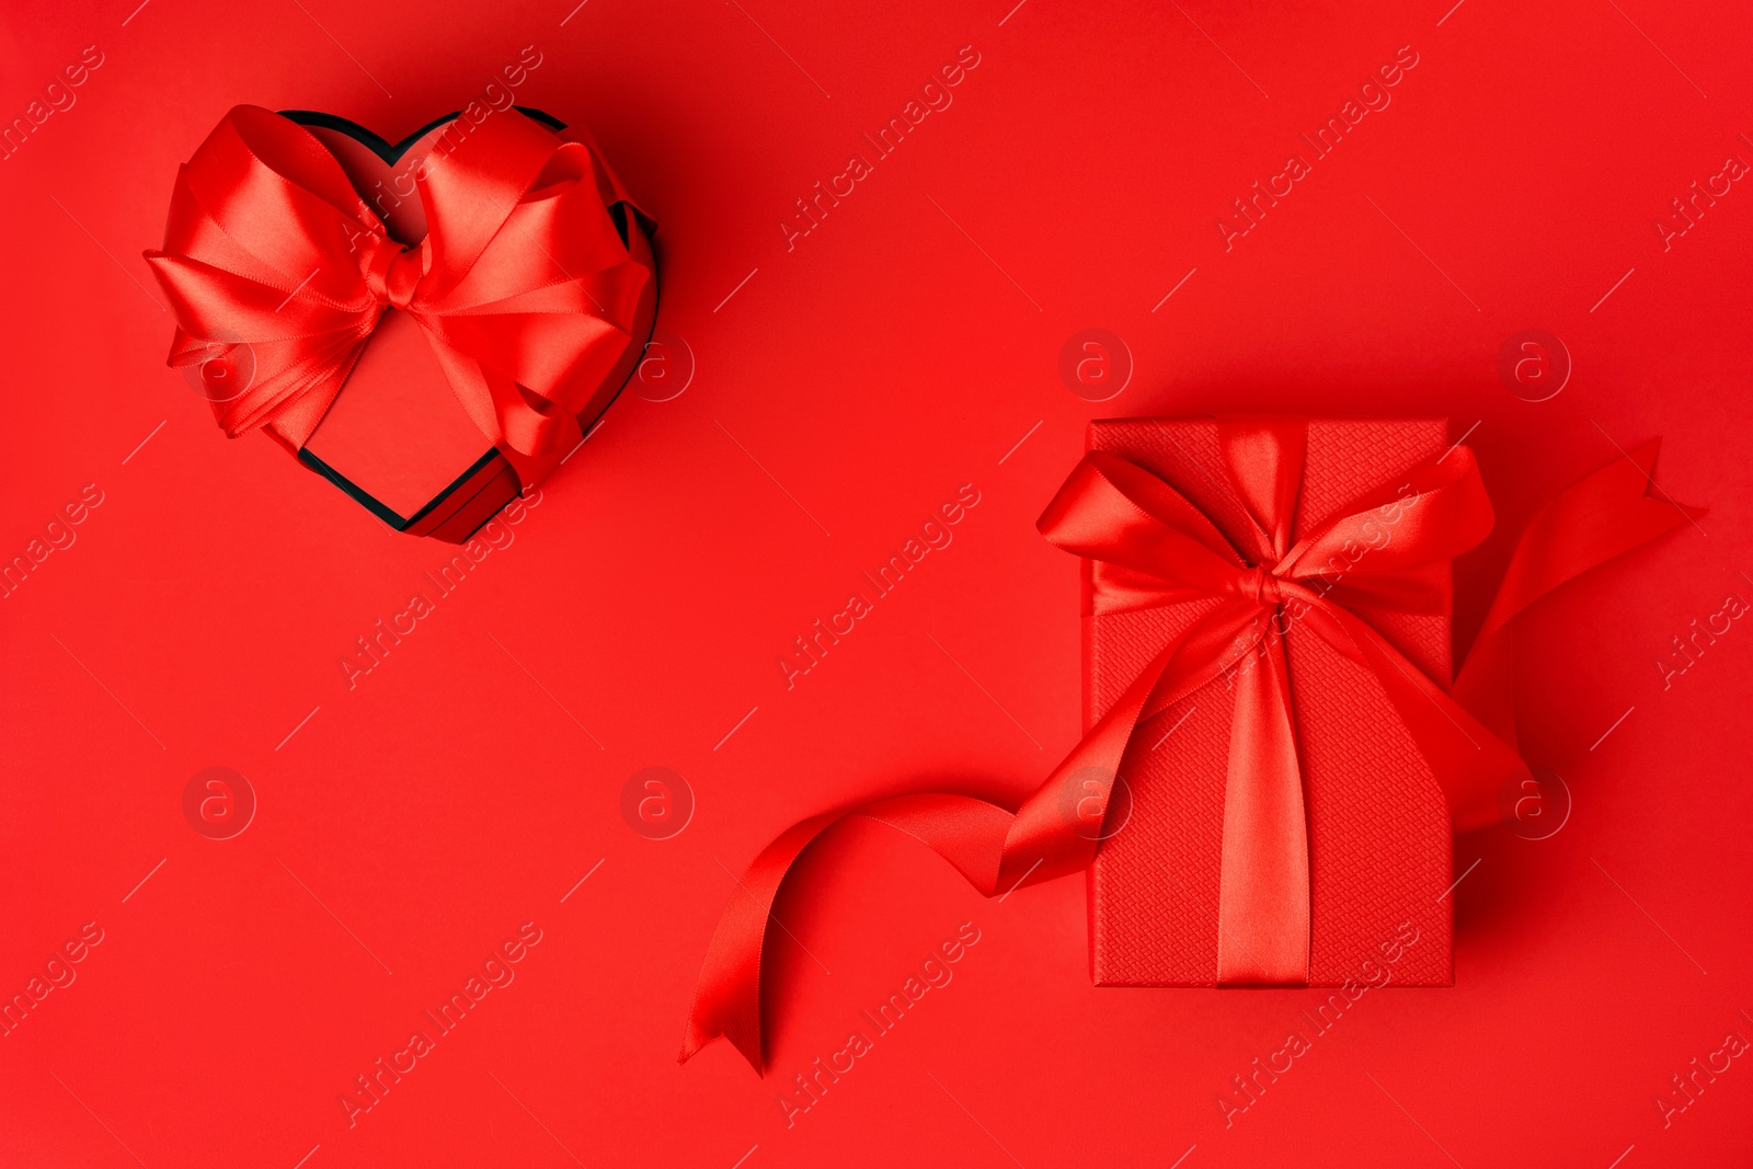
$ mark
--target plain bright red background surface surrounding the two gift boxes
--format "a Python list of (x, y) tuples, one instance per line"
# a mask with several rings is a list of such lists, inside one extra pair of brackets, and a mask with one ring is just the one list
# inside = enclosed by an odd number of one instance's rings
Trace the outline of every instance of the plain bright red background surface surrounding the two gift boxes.
[[(1753, 161), (1744, 11), (568, 9), (0, 21), (7, 121), (103, 53), (0, 163), (0, 552), (103, 492), (0, 601), (0, 992), (105, 931), (0, 1039), (0, 1164), (1746, 1164), (1744, 1060), (1665, 1129), (1653, 1102), (1753, 1036), (1753, 634), (1667, 691), (1653, 664), (1753, 589), (1753, 193), (1671, 251), (1653, 228), (1725, 156)], [(543, 63), (519, 102), (587, 121), (661, 223), (659, 322), (698, 372), (624, 396), (515, 543), (349, 691), (340, 655), (449, 549), (265, 438), (224, 442), (163, 368), (138, 252), (230, 105), (394, 138), (526, 44)], [(969, 44), (954, 105), (787, 252), (792, 200)], [(1225, 252), (1217, 216), (1401, 46), (1418, 65), (1392, 105)], [(1136, 361), (1099, 405), (1057, 373), (1085, 328)], [(1574, 358), (1548, 401), (1495, 373), (1525, 328)], [(1366, 995), (1225, 1129), (1218, 1094), (1318, 992), (1092, 988), (1080, 882), (989, 903), (854, 829), (780, 906), (770, 1076), (722, 1043), (678, 1067), (729, 871), (777, 831), (908, 785), (1013, 801), (1075, 741), (1076, 566), (1033, 521), (1085, 421), (1264, 408), (1478, 421), (1501, 524), (1458, 566), (1462, 638), (1520, 519), (1615, 447), (1664, 435), (1660, 484), (1711, 507), (1530, 622), (1525, 747), (1574, 810), (1550, 840), (1457, 843), (1457, 869), (1480, 859), (1457, 985)], [(791, 638), (964, 482), (982, 503), (954, 545), (787, 692)], [(654, 764), (698, 799), (666, 841), (619, 810)], [(184, 820), (209, 766), (259, 799), (233, 840)], [(354, 1076), (526, 920), (543, 939), (515, 981), (349, 1129)], [(954, 981), (787, 1129), (784, 1083), (964, 920), (982, 939)]]

